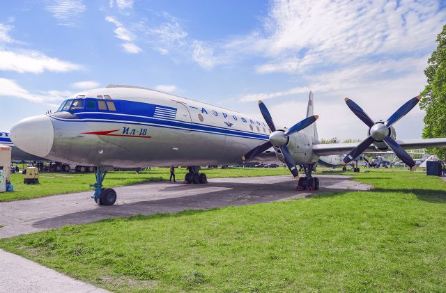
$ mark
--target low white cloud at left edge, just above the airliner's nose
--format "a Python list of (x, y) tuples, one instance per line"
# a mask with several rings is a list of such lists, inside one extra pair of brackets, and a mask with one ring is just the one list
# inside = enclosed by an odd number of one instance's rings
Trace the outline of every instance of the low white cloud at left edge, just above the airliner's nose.
[(19, 86), (15, 81), (3, 78), (0, 78), (0, 88), (0, 97), (16, 97), (29, 100), (31, 102), (49, 105), (54, 104), (54, 102), (64, 100), (68, 95), (72, 94), (70, 92), (60, 92), (56, 90), (51, 90), (40, 94), (33, 94)]

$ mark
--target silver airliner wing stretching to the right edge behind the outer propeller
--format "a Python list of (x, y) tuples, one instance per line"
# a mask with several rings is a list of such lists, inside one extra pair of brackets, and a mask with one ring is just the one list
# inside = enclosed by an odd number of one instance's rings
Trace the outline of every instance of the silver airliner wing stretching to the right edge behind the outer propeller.
[[(441, 148), (446, 147), (446, 138), (419, 138), (397, 140), (402, 148)], [(342, 155), (356, 148), (360, 143), (326, 143), (313, 145), (313, 152), (318, 156)], [(376, 152), (374, 145), (369, 146), (364, 152)]]

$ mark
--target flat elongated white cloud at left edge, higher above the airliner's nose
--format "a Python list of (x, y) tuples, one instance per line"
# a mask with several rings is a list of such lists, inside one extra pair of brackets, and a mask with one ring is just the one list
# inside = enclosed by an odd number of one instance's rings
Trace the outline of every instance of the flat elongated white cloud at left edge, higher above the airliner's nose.
[(67, 72), (81, 69), (81, 65), (48, 57), (37, 51), (13, 52), (0, 48), (0, 70), (41, 73), (45, 70)]

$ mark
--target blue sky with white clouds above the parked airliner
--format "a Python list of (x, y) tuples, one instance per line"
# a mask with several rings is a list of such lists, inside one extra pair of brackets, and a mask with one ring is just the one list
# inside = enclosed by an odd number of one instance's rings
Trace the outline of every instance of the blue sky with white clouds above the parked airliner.
[[(0, 0), (0, 131), (108, 84), (259, 116), (320, 138), (366, 137), (344, 97), (386, 120), (426, 84), (445, 1)], [(418, 107), (397, 138), (420, 138)]]

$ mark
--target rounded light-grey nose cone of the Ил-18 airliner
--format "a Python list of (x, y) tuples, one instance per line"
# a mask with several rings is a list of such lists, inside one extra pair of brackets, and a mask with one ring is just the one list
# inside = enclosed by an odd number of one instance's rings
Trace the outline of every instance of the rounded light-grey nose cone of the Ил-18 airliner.
[(54, 142), (54, 128), (46, 115), (33, 116), (17, 122), (10, 130), (11, 141), (31, 155), (45, 157)]

